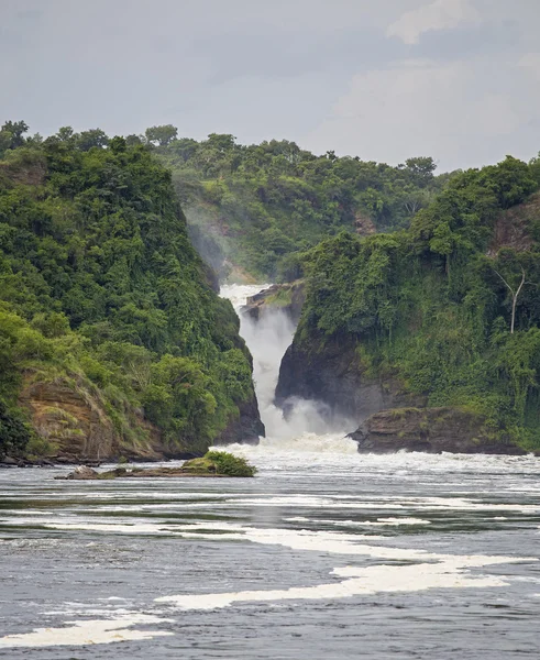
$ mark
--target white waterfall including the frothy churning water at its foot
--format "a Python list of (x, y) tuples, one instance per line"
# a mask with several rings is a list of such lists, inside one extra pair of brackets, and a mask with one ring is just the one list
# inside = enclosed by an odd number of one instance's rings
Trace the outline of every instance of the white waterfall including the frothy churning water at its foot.
[[(246, 298), (269, 285), (227, 285), (220, 295), (228, 298), (236, 311)], [(260, 450), (357, 454), (356, 443), (345, 438), (354, 430), (354, 422), (335, 420), (318, 402), (295, 398), (290, 402), (287, 418), (274, 405), (279, 365), (290, 345), (295, 326), (279, 308), (265, 310), (255, 321), (240, 314), (240, 334), (253, 355), (253, 380), (261, 418), (266, 427), (266, 438)]]

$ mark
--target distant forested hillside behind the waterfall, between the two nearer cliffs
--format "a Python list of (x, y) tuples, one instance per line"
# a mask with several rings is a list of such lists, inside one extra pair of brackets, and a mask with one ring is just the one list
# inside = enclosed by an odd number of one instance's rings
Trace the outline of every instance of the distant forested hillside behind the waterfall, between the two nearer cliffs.
[(408, 227), (449, 179), (434, 176), (430, 157), (390, 167), (316, 156), (287, 140), (245, 146), (212, 133), (197, 142), (153, 127), (128, 141), (146, 144), (172, 168), (191, 237), (223, 277), (228, 260), (258, 280), (296, 279), (302, 251), (343, 229)]

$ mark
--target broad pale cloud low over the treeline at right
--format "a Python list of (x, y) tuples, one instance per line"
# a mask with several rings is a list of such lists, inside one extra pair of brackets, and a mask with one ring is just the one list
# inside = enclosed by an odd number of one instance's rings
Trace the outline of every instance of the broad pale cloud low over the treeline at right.
[(539, 147), (526, 132), (540, 103), (531, 73), (517, 62), (505, 67), (486, 58), (407, 61), (357, 74), (305, 142), (319, 153), (334, 148), (389, 163), (431, 155), (443, 170), (508, 153), (529, 158)]

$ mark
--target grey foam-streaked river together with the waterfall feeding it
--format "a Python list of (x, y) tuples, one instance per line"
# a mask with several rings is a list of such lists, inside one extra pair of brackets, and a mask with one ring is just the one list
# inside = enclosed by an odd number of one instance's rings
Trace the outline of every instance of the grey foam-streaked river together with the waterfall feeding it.
[(361, 455), (306, 402), (284, 422), (261, 331), (272, 436), (232, 448), (255, 479), (0, 471), (0, 657), (538, 658), (540, 461)]

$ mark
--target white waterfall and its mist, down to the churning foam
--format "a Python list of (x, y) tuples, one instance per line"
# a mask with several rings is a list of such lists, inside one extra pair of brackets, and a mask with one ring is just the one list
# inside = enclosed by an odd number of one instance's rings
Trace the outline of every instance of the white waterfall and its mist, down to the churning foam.
[[(350, 420), (335, 419), (329, 406), (321, 402), (290, 398), (286, 402), (287, 414), (274, 405), (279, 376), (279, 365), (285, 351), (293, 342), (295, 326), (279, 308), (265, 309), (258, 320), (241, 314), (246, 298), (268, 285), (230, 285), (221, 287), (221, 296), (233, 304), (240, 316), (240, 334), (253, 355), (253, 378), (261, 418), (271, 440), (300, 440), (307, 435), (320, 440), (329, 433), (346, 433), (354, 430)], [(348, 446), (350, 440), (346, 440)]]

